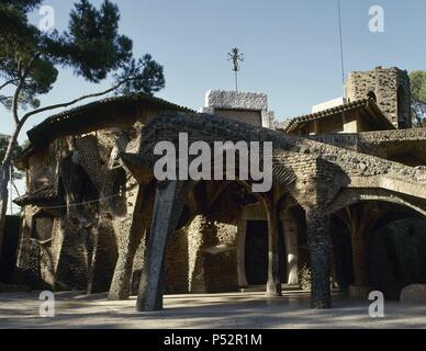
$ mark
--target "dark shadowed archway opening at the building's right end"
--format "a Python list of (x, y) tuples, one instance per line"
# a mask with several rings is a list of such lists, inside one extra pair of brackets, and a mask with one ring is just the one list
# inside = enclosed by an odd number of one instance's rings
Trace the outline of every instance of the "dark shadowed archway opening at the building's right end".
[[(344, 287), (354, 284), (397, 299), (404, 286), (426, 282), (426, 218), (421, 213), (393, 202), (365, 201), (333, 217), (334, 257), (351, 256), (354, 262), (351, 283), (348, 264), (335, 260), (335, 272), (343, 276)], [(343, 238), (337, 234), (346, 231), (350, 242), (346, 240), (346, 246), (337, 249)], [(347, 257), (346, 260), (349, 262)], [(343, 271), (346, 274), (341, 274)]]

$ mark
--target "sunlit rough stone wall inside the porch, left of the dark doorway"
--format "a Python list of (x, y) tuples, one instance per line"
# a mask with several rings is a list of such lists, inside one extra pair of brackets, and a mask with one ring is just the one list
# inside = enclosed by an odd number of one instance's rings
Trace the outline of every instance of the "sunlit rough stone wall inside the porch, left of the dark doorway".
[(198, 213), (176, 230), (167, 249), (167, 293), (235, 291), (237, 217), (242, 206), (228, 192), (211, 211)]

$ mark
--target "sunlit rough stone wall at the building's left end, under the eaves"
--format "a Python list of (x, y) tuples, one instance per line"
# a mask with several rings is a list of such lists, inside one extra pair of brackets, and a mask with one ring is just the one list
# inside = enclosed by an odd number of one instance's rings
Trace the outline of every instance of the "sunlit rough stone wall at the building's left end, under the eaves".
[[(136, 122), (123, 128), (107, 127), (83, 136), (53, 140), (45, 152), (29, 160), (29, 191), (45, 185), (58, 188), (59, 177), (67, 176), (63, 177), (63, 183), (71, 193), (66, 191), (65, 197), (71, 203), (83, 199), (85, 194), (72, 193), (70, 172), (60, 172), (59, 165), (72, 156), (72, 167), (81, 167), (99, 196), (114, 195), (111, 192), (117, 190), (114, 189), (116, 171), (108, 170), (111, 154), (123, 136), (130, 140), (128, 150), (136, 151), (141, 129), (142, 124)], [(123, 185), (125, 188), (126, 184)], [(116, 242), (125, 240), (127, 206), (132, 207), (132, 201), (125, 201), (132, 195), (123, 195), (102, 202), (97, 213), (92, 211), (96, 205), (89, 206), (93, 208), (72, 206), (69, 211), (57, 211), (53, 214), (52, 233), (45, 234), (45, 237), (52, 238), (47, 244), (31, 238), (34, 216), (41, 207), (25, 206), (18, 264), (26, 272), (24, 275), (30, 279), (31, 285), (44, 286), (45, 283), (57, 290), (88, 287), (89, 292), (108, 291), (116, 260)], [(66, 199), (59, 199), (59, 203)], [(132, 217), (132, 211), (128, 212)]]

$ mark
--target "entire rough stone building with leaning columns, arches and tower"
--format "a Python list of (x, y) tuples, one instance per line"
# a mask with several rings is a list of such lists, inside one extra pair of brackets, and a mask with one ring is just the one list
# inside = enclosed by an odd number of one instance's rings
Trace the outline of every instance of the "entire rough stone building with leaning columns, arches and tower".
[[(138, 310), (161, 308), (164, 293), (242, 288), (310, 290), (312, 307), (328, 308), (334, 290), (399, 298), (425, 284), (426, 128), (411, 125), (408, 76), (350, 72), (346, 90), (284, 123), (265, 94), (218, 90), (201, 112), (134, 94), (47, 118), (16, 160), (21, 282), (137, 295)], [(178, 147), (182, 133), (212, 148), (272, 143), (271, 190), (157, 181), (156, 144)]]

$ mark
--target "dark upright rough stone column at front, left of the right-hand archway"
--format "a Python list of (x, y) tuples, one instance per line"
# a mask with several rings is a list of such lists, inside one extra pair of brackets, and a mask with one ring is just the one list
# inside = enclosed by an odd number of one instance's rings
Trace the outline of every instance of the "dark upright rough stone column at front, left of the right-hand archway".
[(310, 208), (306, 211), (307, 240), (311, 250), (311, 306), (330, 308), (332, 291), (329, 283), (329, 216)]

